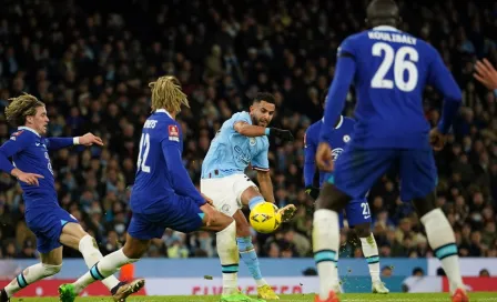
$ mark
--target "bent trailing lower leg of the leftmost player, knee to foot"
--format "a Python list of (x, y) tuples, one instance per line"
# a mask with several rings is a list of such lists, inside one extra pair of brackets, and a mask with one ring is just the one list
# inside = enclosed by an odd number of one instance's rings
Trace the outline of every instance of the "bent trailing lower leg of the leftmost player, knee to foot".
[[(47, 241), (41, 240), (41, 243)], [(42, 246), (41, 246), (42, 248)], [(40, 239), (39, 239), (40, 250)], [(41, 263), (24, 269), (0, 293), (0, 302), (7, 302), (14, 293), (38, 280), (51, 276), (60, 272), (62, 268), (62, 246), (40, 254)]]

